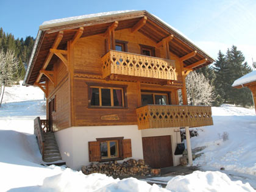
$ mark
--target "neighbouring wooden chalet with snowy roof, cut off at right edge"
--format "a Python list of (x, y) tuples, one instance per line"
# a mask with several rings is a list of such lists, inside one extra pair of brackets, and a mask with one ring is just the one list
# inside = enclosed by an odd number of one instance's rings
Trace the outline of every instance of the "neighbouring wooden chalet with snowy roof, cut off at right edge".
[(252, 91), (252, 97), (254, 98), (254, 106), (255, 106), (255, 112), (256, 112), (256, 71), (252, 71), (251, 73), (248, 73), (243, 77), (236, 79), (235, 82), (233, 82), (232, 87), (234, 88), (247, 87), (249, 88), (249, 90)]

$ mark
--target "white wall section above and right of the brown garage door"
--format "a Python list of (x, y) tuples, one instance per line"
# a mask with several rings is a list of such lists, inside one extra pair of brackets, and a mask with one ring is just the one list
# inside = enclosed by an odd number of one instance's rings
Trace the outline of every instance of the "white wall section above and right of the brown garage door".
[(177, 143), (181, 143), (179, 131), (180, 131), (179, 127), (143, 129), (143, 130), (141, 130), (141, 136), (142, 137), (157, 137), (157, 136), (171, 135), (173, 164), (174, 164), (174, 166), (177, 166), (177, 165), (180, 165), (180, 157), (182, 157), (182, 155), (174, 155)]

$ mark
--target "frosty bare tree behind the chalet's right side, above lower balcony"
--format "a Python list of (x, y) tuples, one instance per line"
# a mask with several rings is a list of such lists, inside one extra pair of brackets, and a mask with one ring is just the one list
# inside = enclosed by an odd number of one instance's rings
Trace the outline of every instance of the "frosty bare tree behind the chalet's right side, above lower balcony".
[[(211, 105), (215, 101), (214, 87), (202, 73), (195, 71), (186, 77), (188, 104), (190, 105)], [(179, 97), (181, 97), (179, 91)], [(182, 99), (180, 99), (182, 101)]]

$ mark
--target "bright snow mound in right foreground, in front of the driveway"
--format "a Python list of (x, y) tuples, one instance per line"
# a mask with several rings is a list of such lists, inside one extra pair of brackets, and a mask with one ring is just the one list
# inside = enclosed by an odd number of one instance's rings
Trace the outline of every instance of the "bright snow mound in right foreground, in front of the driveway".
[(234, 182), (219, 171), (194, 171), (187, 176), (177, 176), (169, 180), (166, 189), (170, 191), (255, 191), (249, 183)]

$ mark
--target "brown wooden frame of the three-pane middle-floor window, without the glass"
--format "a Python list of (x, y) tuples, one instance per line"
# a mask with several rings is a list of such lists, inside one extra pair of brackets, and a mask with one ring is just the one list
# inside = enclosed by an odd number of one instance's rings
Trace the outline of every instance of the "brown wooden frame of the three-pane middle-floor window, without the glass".
[[(116, 84), (95, 84), (87, 83), (88, 86), (88, 108), (127, 108), (127, 85), (116, 85)], [(91, 105), (91, 92), (92, 88), (99, 88), (99, 105)], [(110, 106), (102, 106), (101, 89), (110, 89)], [(122, 106), (114, 105), (113, 90), (121, 90), (122, 92)]]

